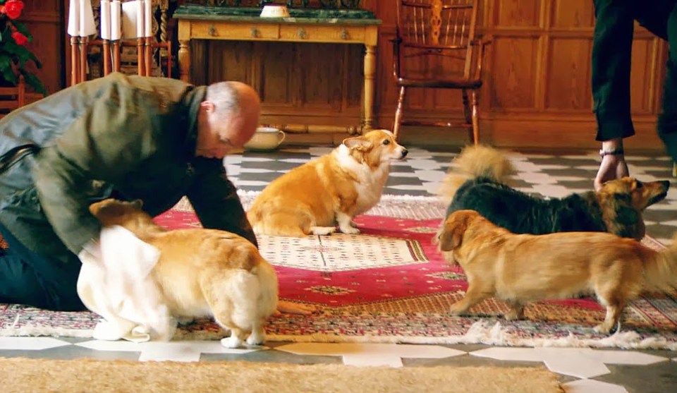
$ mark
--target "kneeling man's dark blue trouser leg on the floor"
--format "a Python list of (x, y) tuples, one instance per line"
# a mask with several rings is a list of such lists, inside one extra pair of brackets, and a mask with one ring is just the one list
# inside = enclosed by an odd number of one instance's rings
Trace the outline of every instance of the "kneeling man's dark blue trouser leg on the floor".
[(0, 253), (0, 303), (18, 303), (48, 310), (77, 311), (85, 306), (77, 291), (80, 260), (68, 263), (32, 253), (4, 226), (8, 248)]

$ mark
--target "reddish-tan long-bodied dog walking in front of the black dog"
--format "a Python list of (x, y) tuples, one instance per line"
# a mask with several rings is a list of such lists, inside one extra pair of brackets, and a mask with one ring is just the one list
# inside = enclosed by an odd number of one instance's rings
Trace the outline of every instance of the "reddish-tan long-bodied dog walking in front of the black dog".
[(677, 293), (677, 241), (656, 251), (604, 232), (512, 234), (474, 210), (446, 218), (438, 239), (449, 262), (468, 277), (465, 297), (452, 314), (494, 296), (508, 303), (507, 320), (523, 317), (525, 303), (593, 293), (606, 306), (594, 329), (620, 329), (623, 308), (642, 292)]

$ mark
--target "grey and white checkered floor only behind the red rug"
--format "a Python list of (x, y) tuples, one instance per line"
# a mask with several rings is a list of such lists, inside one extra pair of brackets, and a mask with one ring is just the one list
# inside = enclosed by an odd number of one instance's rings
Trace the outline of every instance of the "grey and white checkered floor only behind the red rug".
[[(244, 152), (226, 157), (226, 170), (233, 183), (248, 191), (260, 191), (270, 181), (310, 159), (327, 154), (331, 147), (285, 148), (275, 152)], [(535, 154), (505, 150), (517, 169), (513, 186), (544, 197), (563, 197), (592, 189), (599, 168), (596, 152), (579, 154)], [(458, 154), (453, 151), (412, 147), (408, 157), (394, 162), (384, 194), (434, 195), (439, 182)], [(642, 181), (672, 180), (669, 157), (630, 155), (626, 157), (630, 174)], [(667, 198), (647, 209), (644, 215), (647, 234), (661, 243), (671, 243), (677, 229), (677, 188)]]

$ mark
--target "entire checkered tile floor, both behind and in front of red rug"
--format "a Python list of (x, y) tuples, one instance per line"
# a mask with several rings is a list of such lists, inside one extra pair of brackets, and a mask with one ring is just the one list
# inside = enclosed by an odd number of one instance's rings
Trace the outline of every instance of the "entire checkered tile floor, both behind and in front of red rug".
[[(225, 164), (229, 177), (239, 188), (260, 191), (277, 176), (330, 150), (331, 147), (298, 147), (276, 152), (245, 152), (226, 157)], [(411, 147), (409, 151), (407, 159), (394, 163), (384, 193), (434, 195), (458, 149), (445, 151)], [(578, 155), (506, 154), (518, 170), (514, 184), (525, 192), (545, 197), (561, 197), (590, 190), (599, 166), (599, 157), (594, 152)], [(630, 156), (627, 159), (630, 173), (642, 181), (671, 179), (671, 162), (666, 157), (647, 155)], [(645, 219), (649, 235), (667, 243), (677, 227), (677, 191), (671, 189), (666, 200), (649, 207)], [(567, 393), (676, 392), (676, 356), (674, 351), (666, 350), (513, 348), (483, 344), (354, 346), (270, 342), (263, 349), (231, 350), (225, 349), (219, 341), (135, 344), (84, 338), (0, 337), (0, 357), (200, 362), (233, 360), (391, 367), (544, 365), (557, 373)]]

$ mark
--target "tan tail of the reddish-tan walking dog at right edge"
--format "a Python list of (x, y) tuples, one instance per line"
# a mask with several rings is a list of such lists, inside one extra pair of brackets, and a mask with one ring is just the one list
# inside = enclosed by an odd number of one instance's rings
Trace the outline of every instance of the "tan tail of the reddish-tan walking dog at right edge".
[(677, 296), (677, 232), (668, 248), (645, 262), (645, 290)]

